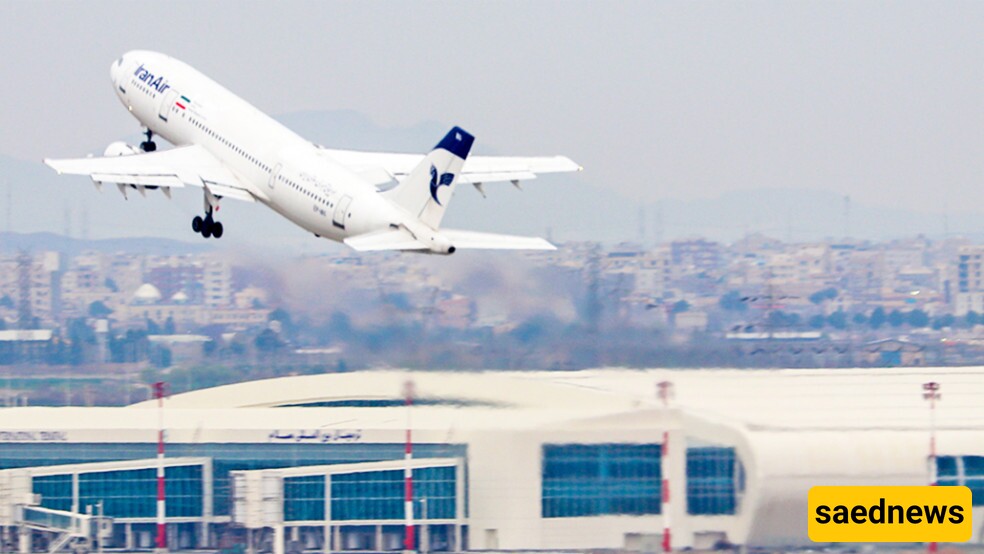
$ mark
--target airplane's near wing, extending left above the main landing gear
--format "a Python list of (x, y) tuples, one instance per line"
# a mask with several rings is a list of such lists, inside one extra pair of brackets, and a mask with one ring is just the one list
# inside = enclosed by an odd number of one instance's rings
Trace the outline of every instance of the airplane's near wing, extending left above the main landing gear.
[(59, 174), (87, 175), (97, 186), (116, 183), (124, 196), (127, 186), (141, 193), (160, 188), (168, 196), (171, 189), (192, 186), (205, 188), (217, 197), (256, 200), (235, 174), (199, 145), (128, 156), (45, 159), (44, 163)]

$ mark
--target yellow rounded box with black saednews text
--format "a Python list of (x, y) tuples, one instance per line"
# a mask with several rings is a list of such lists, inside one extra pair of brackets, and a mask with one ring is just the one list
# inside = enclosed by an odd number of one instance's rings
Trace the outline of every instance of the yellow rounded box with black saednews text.
[(813, 487), (814, 542), (965, 542), (973, 533), (967, 487)]

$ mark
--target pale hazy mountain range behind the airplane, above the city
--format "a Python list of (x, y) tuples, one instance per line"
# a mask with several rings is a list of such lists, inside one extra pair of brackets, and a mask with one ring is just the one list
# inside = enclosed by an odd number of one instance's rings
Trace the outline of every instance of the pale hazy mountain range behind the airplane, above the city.
[[(330, 147), (361, 150), (420, 152), (431, 148), (450, 128), (439, 122), (387, 128), (352, 111), (309, 111), (279, 118), (312, 141)], [(129, 137), (139, 140), (137, 135)], [(98, 154), (101, 148), (93, 148)], [(509, 145), (476, 141), (479, 154), (524, 154)], [(85, 153), (79, 153), (84, 155)], [(659, 168), (652, 168), (654, 181)], [(583, 174), (545, 176), (522, 183), (487, 185), (488, 198), (470, 186), (455, 194), (445, 225), (500, 233), (546, 235), (555, 240), (648, 241), (685, 236), (733, 241), (745, 233), (765, 233), (794, 241), (841, 237), (886, 239), (944, 232), (984, 238), (984, 214), (976, 207), (948, 214), (918, 213), (885, 206), (845, 204), (838, 194), (796, 189), (734, 191), (716, 198), (640, 203), (615, 192), (590, 168)], [(8, 204), (8, 195), (11, 202)], [(221, 243), (192, 234), (191, 218), (201, 211), (201, 193), (177, 191), (168, 201), (159, 192), (125, 201), (116, 187), (96, 193), (88, 179), (59, 177), (43, 164), (0, 156), (0, 231), (60, 233), (74, 237), (119, 238), (152, 236), (201, 241), (209, 247), (252, 252), (316, 254), (338, 246), (294, 227), (257, 204), (223, 203), (220, 218), (226, 227)], [(7, 218), (8, 205), (11, 217)], [(6, 241), (4, 241), (6, 242)]]

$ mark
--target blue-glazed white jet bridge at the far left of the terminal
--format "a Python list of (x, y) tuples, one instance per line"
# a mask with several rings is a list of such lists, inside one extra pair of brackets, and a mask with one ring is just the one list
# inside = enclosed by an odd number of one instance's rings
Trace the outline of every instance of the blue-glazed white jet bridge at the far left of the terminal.
[[(92, 544), (148, 548), (156, 530), (156, 458), (33, 466), (0, 470), (0, 544), (20, 552), (56, 552)], [(167, 480), (168, 542), (208, 544), (212, 460), (163, 461)], [(107, 517), (103, 517), (107, 516)]]

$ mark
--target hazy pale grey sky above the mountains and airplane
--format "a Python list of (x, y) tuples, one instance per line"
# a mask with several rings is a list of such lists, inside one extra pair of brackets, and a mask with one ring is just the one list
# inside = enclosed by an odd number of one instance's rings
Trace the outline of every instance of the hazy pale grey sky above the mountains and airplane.
[(984, 201), (981, 2), (3, 0), (0, 21), (0, 154), (24, 160), (132, 134), (109, 66), (143, 48), (272, 114), (460, 124), (640, 200)]

